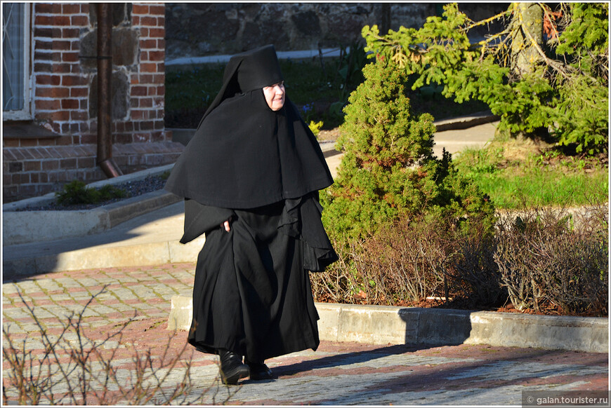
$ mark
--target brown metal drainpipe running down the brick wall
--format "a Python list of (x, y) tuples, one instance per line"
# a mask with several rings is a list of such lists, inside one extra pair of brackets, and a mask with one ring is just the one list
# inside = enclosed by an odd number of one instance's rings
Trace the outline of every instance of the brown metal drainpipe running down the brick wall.
[(112, 160), (110, 117), (112, 104), (112, 13), (111, 5), (98, 3), (98, 158), (97, 164), (108, 178), (123, 175)]

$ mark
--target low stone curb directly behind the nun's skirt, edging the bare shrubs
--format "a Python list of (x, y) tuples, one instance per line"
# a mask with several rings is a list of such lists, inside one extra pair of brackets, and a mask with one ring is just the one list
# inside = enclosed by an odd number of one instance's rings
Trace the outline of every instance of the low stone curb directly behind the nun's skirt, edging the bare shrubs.
[[(317, 303), (321, 340), (366, 344), (488, 344), (608, 353), (608, 319)], [(188, 330), (192, 299), (174, 296), (168, 329)]]

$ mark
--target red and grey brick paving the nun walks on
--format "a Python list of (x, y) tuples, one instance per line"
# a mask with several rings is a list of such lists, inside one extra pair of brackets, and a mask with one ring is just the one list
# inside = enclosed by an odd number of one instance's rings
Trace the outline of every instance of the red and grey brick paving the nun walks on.
[[(23, 372), (32, 374), (29, 386), (46, 390), (38, 402), (53, 397), (63, 404), (79, 402), (74, 390), (81, 377), (89, 379), (90, 404), (515, 405), (524, 390), (609, 389), (607, 353), (329, 341), (315, 352), (268, 360), (277, 374), (273, 381), (225, 387), (215, 356), (185, 346), (185, 332), (166, 329), (170, 299), (190, 293), (194, 269), (194, 264), (105, 268), (4, 282), (4, 402), (18, 402), (19, 396), (8, 362), (11, 344), (33, 362)], [(54, 341), (55, 356), (48, 354), (48, 342)], [(161, 387), (154, 392), (143, 390), (157, 383)], [(122, 393), (126, 390), (131, 393)]]

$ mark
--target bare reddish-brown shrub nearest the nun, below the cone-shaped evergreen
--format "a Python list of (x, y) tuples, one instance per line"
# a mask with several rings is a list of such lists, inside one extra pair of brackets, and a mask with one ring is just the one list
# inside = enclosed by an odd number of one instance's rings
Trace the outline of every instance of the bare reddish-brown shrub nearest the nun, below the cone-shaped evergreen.
[(315, 298), (393, 305), (440, 292), (449, 241), (432, 223), (401, 217), (374, 236), (338, 245), (340, 261), (312, 276)]

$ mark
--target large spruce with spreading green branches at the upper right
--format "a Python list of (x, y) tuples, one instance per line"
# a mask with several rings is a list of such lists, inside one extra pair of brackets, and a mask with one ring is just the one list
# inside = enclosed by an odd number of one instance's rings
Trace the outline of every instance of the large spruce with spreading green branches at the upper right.
[[(457, 4), (447, 4), (442, 17), (427, 18), (419, 29), (400, 27), (380, 35), (376, 26), (364, 27), (365, 50), (385, 55), (406, 76), (416, 76), (414, 89), (439, 83), (442, 95), (456, 102), (485, 102), (501, 116), (499, 130), (549, 134), (577, 152), (606, 153), (608, 4), (560, 4), (556, 12), (546, 4), (532, 6), (541, 14), (534, 25), (541, 32), (544, 25), (548, 29), (544, 43), (523, 39), (521, 48), (516, 45), (530, 24), (519, 3), (481, 22), (473, 22)], [(472, 44), (468, 31), (493, 20), (506, 22), (505, 29)], [(524, 60), (527, 67), (520, 65)]]

